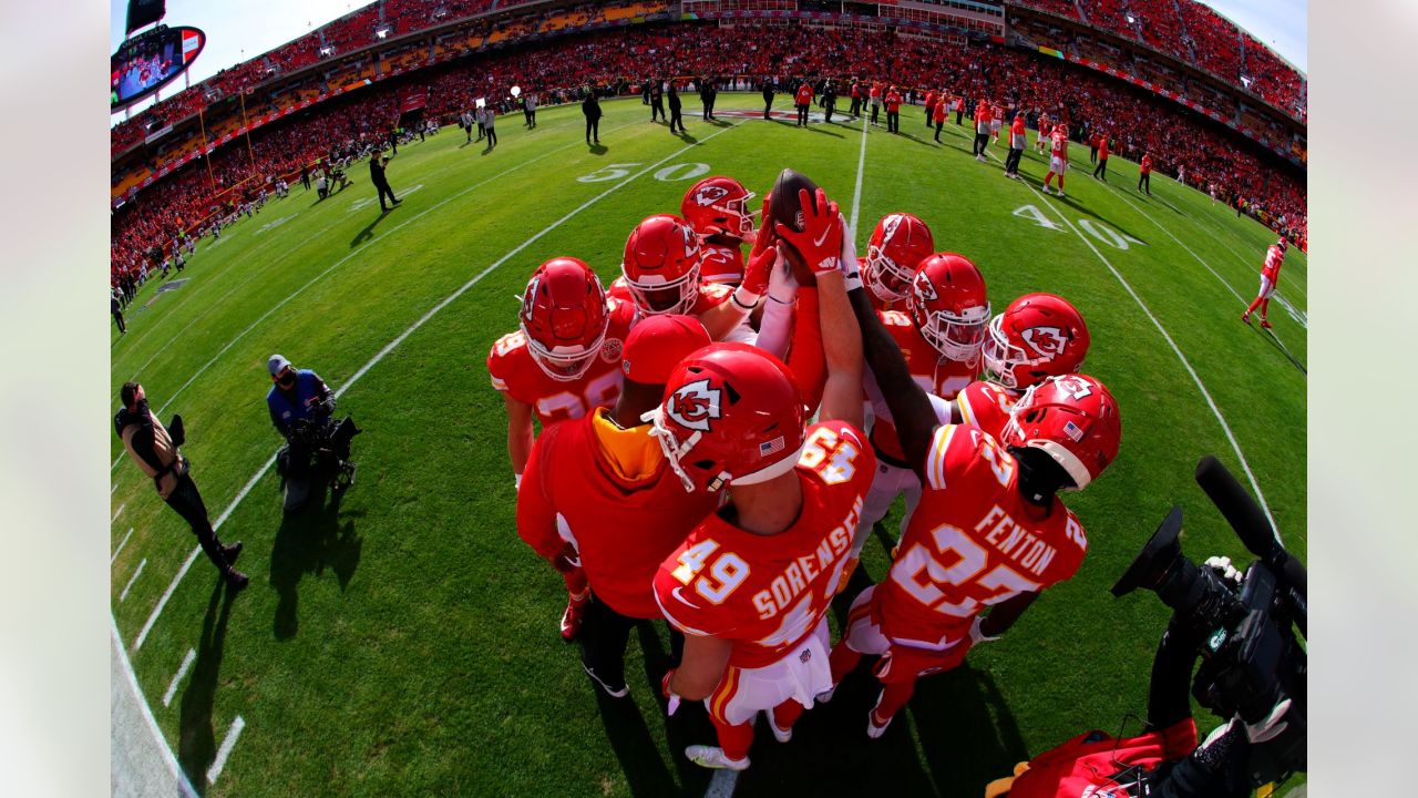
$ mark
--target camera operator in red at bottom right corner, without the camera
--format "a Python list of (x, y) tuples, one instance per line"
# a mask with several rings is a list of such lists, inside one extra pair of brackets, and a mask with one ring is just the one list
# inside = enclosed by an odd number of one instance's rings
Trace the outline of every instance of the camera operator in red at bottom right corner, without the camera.
[[(1207, 561), (1222, 579), (1241, 575), (1227, 558)], [(1143, 734), (1115, 738), (1102, 731), (1081, 734), (1031, 760), (1012, 780), (986, 788), (987, 798), (1246, 798), (1254, 748), (1285, 730), (1289, 700), (1256, 724), (1239, 717), (1218, 727), (1197, 747), (1191, 717), (1191, 672), (1210, 629), (1174, 613), (1153, 657)]]

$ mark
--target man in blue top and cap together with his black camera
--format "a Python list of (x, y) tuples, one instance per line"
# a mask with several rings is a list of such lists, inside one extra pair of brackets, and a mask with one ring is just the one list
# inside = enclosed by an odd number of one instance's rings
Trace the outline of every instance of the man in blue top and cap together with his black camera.
[(285, 511), (295, 513), (319, 483), (328, 481), (336, 494), (353, 484), (349, 446), (360, 430), (349, 416), (335, 422), (335, 392), (320, 375), (296, 369), (285, 355), (271, 355), (267, 369), (272, 382), (267, 408), (271, 423), (285, 437), (277, 470), (285, 477)]

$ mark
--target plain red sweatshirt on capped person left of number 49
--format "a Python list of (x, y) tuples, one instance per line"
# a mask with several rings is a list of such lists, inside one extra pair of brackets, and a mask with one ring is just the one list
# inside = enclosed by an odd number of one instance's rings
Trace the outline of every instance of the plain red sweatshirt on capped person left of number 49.
[[(655, 571), (719, 497), (685, 491), (662, 456), (648, 474), (627, 479), (594, 425), (591, 413), (536, 439), (518, 490), (518, 534), (545, 558), (570, 537), (597, 599), (630, 618), (659, 618)], [(647, 442), (658, 449), (648, 433)]]

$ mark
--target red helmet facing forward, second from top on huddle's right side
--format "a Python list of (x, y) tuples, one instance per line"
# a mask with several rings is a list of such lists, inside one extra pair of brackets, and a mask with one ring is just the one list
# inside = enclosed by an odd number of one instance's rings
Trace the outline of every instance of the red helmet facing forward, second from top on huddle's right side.
[(906, 294), (906, 311), (937, 352), (961, 364), (974, 362), (990, 324), (984, 277), (970, 258), (936, 253), (920, 261)]

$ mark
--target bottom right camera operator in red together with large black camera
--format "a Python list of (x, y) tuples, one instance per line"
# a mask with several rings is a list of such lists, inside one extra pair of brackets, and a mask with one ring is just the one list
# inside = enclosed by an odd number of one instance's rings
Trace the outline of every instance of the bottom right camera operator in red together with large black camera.
[[(1115, 596), (1154, 591), (1173, 609), (1144, 733), (1081, 734), (990, 784), (986, 798), (1245, 798), (1306, 770), (1306, 653), (1296, 636), (1307, 616), (1305, 567), (1219, 461), (1204, 459), (1197, 481), (1261, 559), (1245, 574), (1217, 557), (1198, 568), (1181, 552), (1181, 508), (1173, 508), (1113, 585)], [(1201, 745), (1191, 696), (1227, 721)]]

